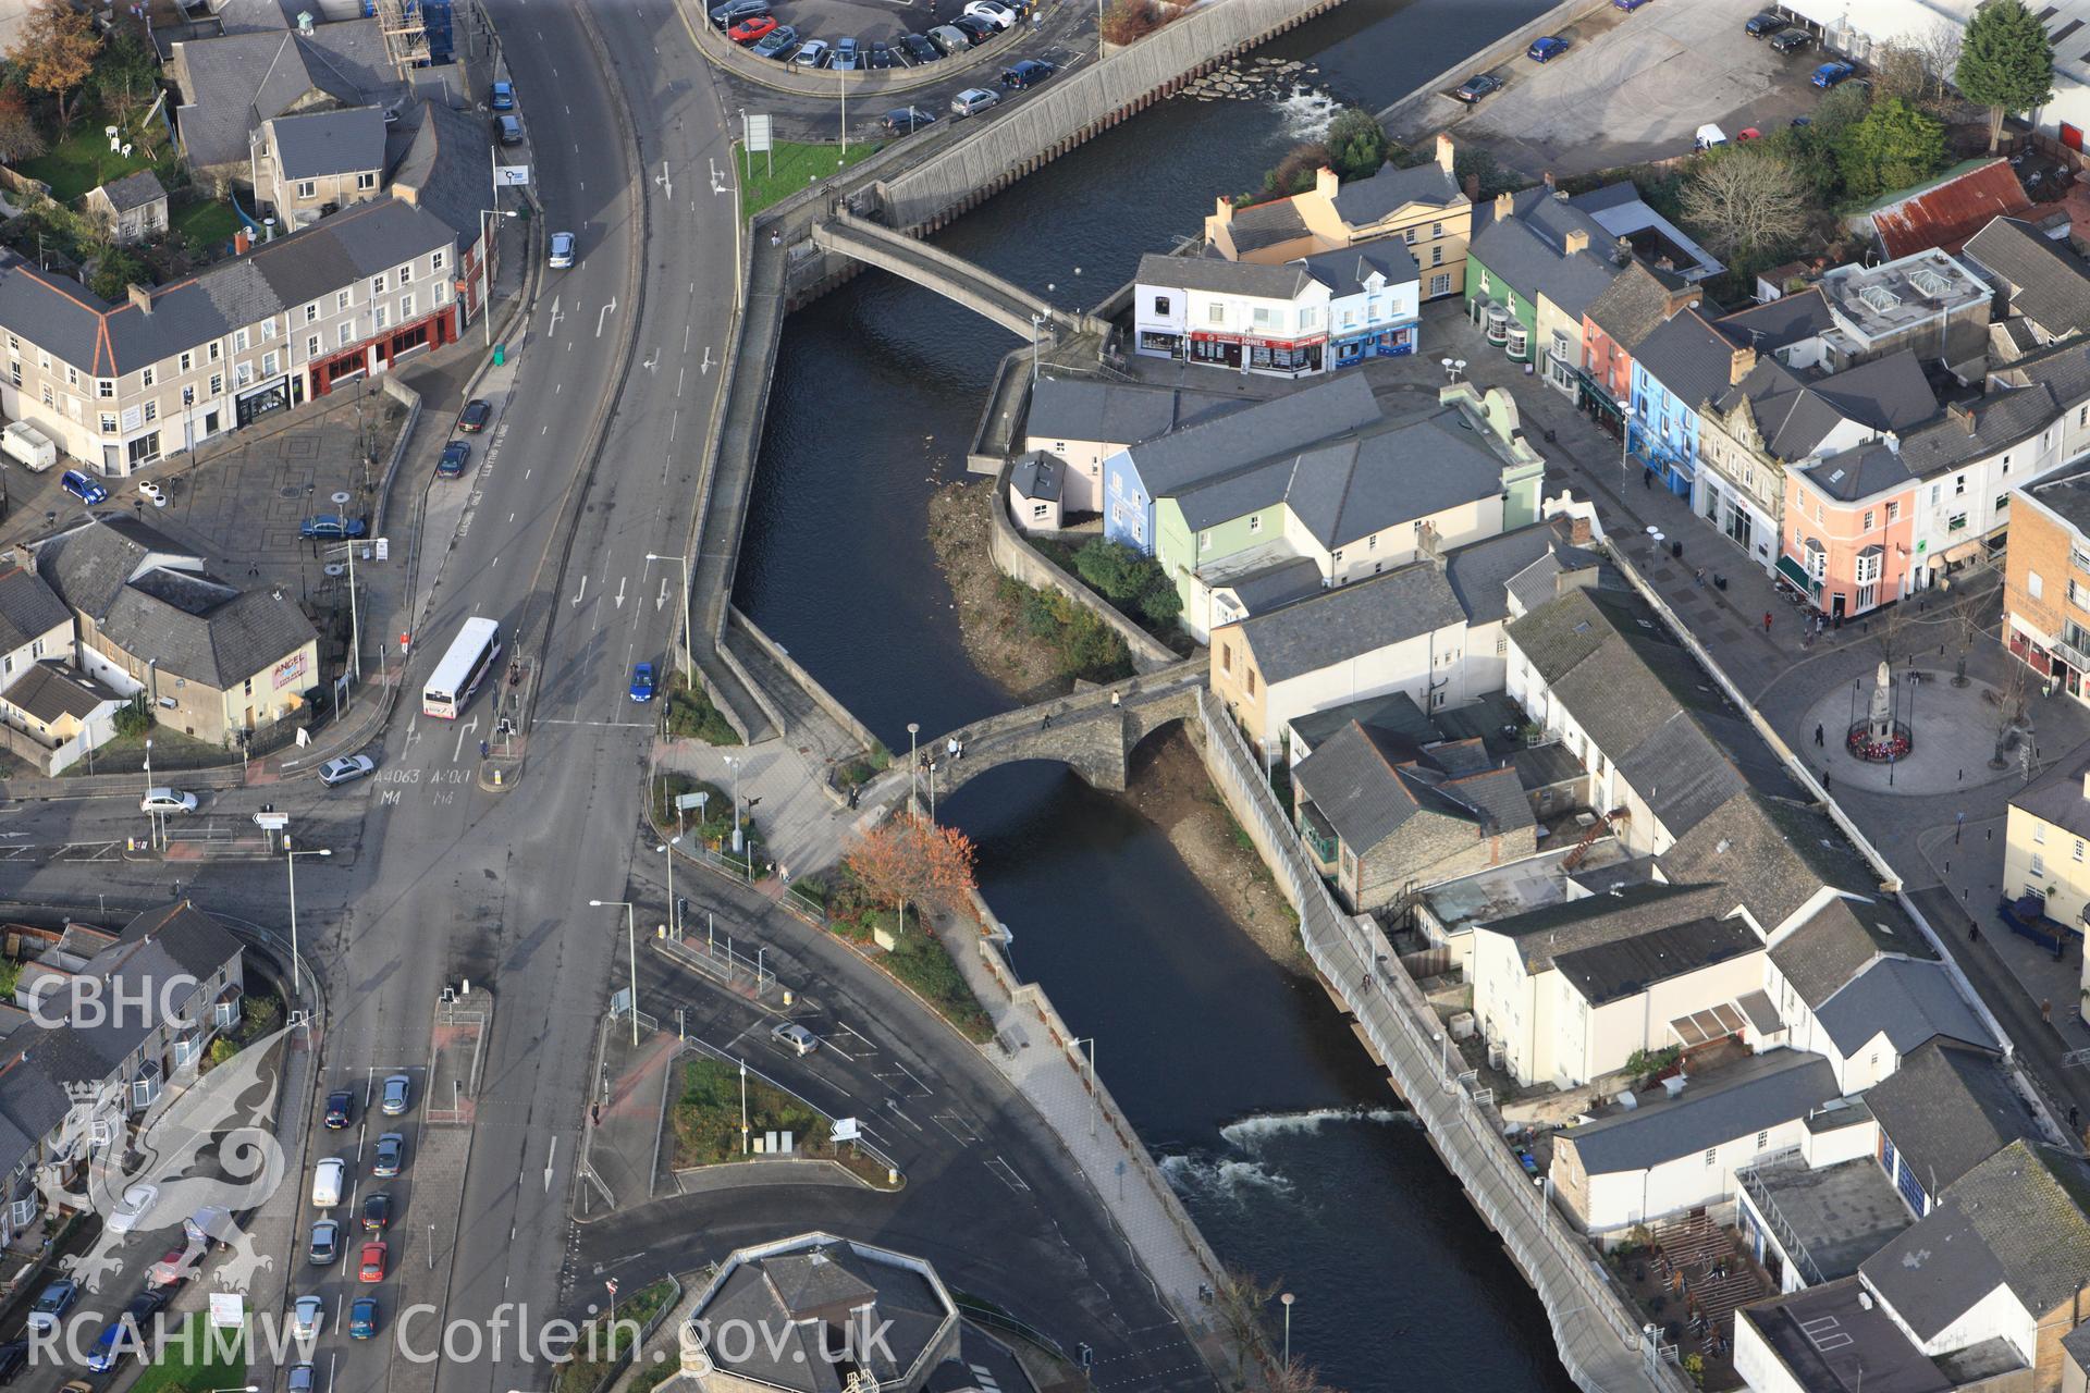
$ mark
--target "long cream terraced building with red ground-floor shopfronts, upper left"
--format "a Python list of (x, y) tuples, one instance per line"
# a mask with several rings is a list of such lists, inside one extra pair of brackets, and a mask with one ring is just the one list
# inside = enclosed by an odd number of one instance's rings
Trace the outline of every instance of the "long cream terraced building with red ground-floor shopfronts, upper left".
[(111, 305), (0, 259), (0, 411), (125, 476), (458, 336), (458, 234), (380, 198)]

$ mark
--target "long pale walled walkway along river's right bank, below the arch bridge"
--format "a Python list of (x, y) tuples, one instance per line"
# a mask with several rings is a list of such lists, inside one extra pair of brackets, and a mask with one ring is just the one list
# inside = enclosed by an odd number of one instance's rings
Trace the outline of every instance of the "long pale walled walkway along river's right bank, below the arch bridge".
[[(1400, 969), (1379, 927), (1336, 906), (1294, 842), (1254, 754), (1208, 689), (1198, 693), (1198, 708), (1212, 785), (1298, 908), (1300, 938), (1329, 990), (1350, 1005), (1373, 1053), (1386, 1061), (1409, 1107), (1427, 1126), (1438, 1155), (1465, 1186), (1467, 1201), (1503, 1236), (1517, 1268), (1538, 1291), (1568, 1374), (1590, 1391), (1687, 1389), (1674, 1366), (1659, 1357), (1643, 1360), (1639, 1318), (1588, 1243), (1530, 1182), (1476, 1099), (1442, 1078), (1438, 1046), (1427, 1034), (1436, 1028), (1430, 1002)], [(1356, 984), (1356, 990), (1346, 994), (1346, 982)], [(1425, 1028), (1423, 1021), (1432, 1025)]]

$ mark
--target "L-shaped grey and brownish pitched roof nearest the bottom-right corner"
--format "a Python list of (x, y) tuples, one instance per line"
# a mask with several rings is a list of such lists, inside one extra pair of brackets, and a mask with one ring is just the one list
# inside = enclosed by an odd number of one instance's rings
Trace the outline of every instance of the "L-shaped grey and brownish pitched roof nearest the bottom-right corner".
[(2008, 1286), (2034, 1320), (2090, 1272), (2090, 1172), (2052, 1147), (2011, 1142), (1956, 1182), (1908, 1232), (1868, 1257), (1864, 1280), (1929, 1341)]

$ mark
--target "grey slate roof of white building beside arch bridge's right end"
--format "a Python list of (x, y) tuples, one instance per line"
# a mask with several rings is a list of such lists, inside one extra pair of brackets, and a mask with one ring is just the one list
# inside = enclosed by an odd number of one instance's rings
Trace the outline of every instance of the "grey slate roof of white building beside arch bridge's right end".
[(1444, 572), (1430, 562), (1413, 562), (1229, 627), (1241, 633), (1262, 681), (1277, 685), (1463, 618)]

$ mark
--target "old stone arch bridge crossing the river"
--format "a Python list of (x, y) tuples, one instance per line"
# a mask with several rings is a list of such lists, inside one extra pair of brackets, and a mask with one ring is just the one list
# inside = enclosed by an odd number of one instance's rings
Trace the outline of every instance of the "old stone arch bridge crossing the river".
[[(1024, 760), (1053, 760), (1072, 769), (1091, 787), (1122, 792), (1139, 741), (1170, 721), (1198, 718), (1198, 693), (1206, 685), (1206, 670), (1204, 656), (1189, 658), (1158, 672), (974, 721), (934, 739), (924, 737), (918, 750), (936, 762), (938, 800), (991, 769)], [(949, 756), (951, 737), (963, 741), (966, 758)], [(928, 773), (920, 769), (920, 756), (913, 773), (913, 783), (926, 798)], [(865, 789), (865, 802), (899, 802), (907, 789), (907, 754), (901, 750), (895, 752), (892, 769)]]

